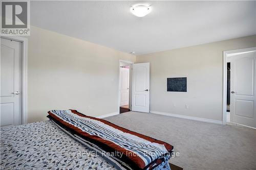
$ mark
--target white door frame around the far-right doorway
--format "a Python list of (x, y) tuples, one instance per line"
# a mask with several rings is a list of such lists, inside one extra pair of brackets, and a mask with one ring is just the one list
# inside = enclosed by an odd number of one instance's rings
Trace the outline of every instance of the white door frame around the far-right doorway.
[[(242, 48), (238, 50), (223, 51), (223, 111), (222, 111), (222, 124), (226, 125), (226, 112), (227, 112), (227, 62), (228, 58), (238, 54), (249, 53), (256, 51), (256, 46), (250, 48)], [(243, 125), (245, 126), (245, 125)], [(251, 127), (250, 127), (251, 128)]]

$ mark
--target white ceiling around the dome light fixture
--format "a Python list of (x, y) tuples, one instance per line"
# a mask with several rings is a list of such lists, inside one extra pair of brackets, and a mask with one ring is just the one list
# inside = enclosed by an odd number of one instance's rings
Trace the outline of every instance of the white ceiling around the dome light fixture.
[(31, 25), (140, 55), (256, 34), (256, 2), (31, 1)]

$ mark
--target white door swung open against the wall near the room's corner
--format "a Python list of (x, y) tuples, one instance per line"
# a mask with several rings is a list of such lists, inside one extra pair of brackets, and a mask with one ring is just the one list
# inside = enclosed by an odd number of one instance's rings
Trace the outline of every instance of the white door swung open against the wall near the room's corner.
[(133, 64), (132, 110), (150, 112), (150, 63)]

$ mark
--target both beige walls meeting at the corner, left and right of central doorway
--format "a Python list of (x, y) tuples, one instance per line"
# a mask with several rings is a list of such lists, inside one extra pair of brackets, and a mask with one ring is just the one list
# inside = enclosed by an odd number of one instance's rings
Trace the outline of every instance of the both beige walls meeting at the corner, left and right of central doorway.
[[(32, 27), (28, 37), (28, 122), (51, 109), (99, 116), (118, 110), (119, 59), (151, 63), (150, 110), (222, 120), (223, 51), (256, 46), (256, 35), (136, 56)], [(167, 92), (167, 77), (188, 92)], [(173, 106), (175, 103), (175, 107)], [(185, 109), (188, 105), (188, 109)]]

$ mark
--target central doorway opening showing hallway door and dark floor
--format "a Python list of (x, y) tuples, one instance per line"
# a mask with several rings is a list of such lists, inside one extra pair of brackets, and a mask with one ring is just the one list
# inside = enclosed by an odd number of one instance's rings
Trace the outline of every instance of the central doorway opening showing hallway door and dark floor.
[(131, 111), (131, 68), (132, 63), (119, 63), (119, 113)]

